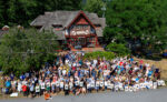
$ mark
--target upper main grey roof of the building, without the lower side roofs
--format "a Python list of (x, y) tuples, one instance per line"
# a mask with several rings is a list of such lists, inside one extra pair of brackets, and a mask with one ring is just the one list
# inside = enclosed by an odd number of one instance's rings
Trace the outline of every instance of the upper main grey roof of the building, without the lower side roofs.
[(84, 13), (88, 17), (87, 19), (89, 19), (92, 24), (105, 26), (102, 23), (106, 23), (105, 18), (99, 18), (97, 13), (89, 13), (87, 11), (53, 11), (45, 12), (45, 14), (37, 17), (30, 26), (48, 27), (48, 24), (61, 24), (63, 28), (67, 28), (79, 13)]

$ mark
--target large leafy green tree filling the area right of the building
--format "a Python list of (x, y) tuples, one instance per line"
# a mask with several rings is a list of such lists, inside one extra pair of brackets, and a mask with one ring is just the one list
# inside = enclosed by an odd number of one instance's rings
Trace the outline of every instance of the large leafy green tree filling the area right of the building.
[(112, 0), (107, 4), (105, 41), (129, 43), (134, 52), (160, 52), (167, 45), (166, 11), (166, 0)]

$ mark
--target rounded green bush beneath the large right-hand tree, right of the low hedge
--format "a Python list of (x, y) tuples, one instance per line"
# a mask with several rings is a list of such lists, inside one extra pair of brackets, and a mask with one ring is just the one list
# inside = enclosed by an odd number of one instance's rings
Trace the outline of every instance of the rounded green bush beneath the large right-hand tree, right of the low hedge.
[(110, 43), (107, 45), (107, 50), (115, 52), (118, 57), (129, 55), (130, 51), (125, 44)]

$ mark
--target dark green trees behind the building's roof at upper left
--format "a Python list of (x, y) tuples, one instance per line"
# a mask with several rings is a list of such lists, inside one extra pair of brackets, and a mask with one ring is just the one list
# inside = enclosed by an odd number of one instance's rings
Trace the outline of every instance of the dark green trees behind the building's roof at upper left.
[(29, 27), (45, 11), (80, 10), (81, 0), (1, 0), (0, 28), (3, 26)]

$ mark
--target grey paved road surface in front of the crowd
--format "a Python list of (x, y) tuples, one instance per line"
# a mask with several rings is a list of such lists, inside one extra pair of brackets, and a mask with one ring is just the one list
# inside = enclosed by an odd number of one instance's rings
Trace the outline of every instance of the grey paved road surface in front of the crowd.
[[(46, 102), (43, 98), (0, 100), (0, 102)], [(104, 92), (78, 96), (53, 96), (49, 102), (167, 102), (167, 89), (140, 92)]]

